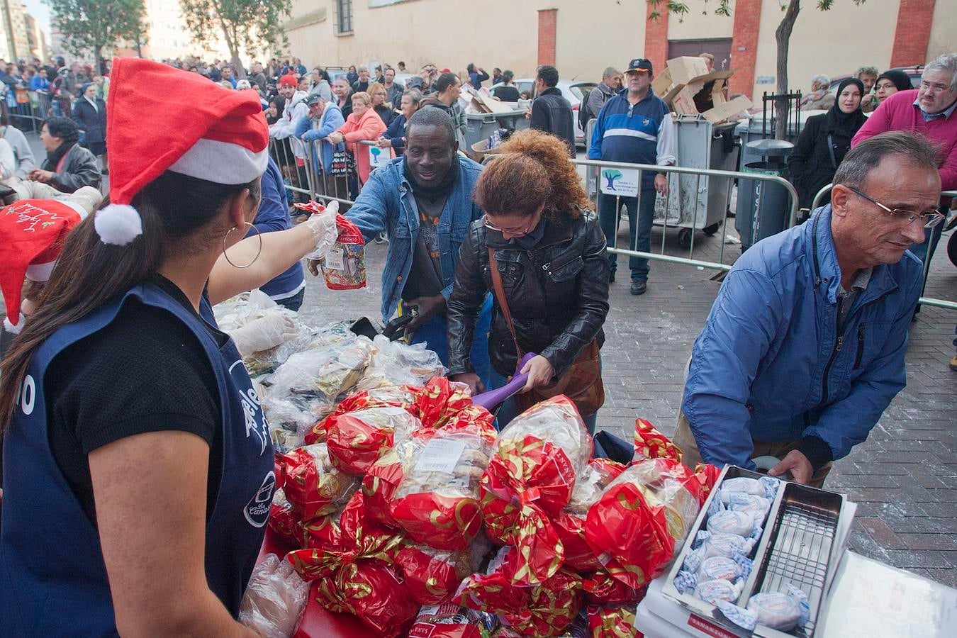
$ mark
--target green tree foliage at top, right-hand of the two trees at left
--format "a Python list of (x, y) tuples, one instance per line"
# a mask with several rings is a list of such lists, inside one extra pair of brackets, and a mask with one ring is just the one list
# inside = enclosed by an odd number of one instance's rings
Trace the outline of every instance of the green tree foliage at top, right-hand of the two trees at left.
[(239, 77), (246, 75), (240, 49), (259, 52), (288, 45), (281, 26), (291, 11), (291, 0), (180, 0), (180, 8), (199, 42), (223, 38)]

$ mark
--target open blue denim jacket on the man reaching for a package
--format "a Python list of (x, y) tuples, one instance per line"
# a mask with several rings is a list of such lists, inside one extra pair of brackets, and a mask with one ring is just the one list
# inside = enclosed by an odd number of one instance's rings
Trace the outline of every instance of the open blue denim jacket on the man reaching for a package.
[[(472, 201), (472, 190), (479, 181), (481, 165), (462, 156), (457, 159), (458, 181), (438, 218), (439, 262), (444, 286), (442, 296), (446, 299), (452, 295), (458, 249), (468, 234), (469, 226), (482, 216), (479, 205)], [(345, 213), (359, 227), (366, 241), (380, 232), (389, 232), (389, 253), (382, 275), (384, 321), (392, 317), (402, 298), (402, 289), (412, 269), (412, 253), (418, 240), (418, 207), (412, 187), (406, 179), (405, 162), (405, 157), (398, 157), (373, 170), (355, 204)]]

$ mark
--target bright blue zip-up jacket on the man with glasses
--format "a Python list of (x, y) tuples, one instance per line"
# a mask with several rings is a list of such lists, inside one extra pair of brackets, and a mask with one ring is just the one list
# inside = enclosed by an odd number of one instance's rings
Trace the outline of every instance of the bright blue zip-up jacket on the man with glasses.
[(830, 205), (734, 264), (695, 341), (681, 404), (705, 462), (753, 469), (752, 440), (801, 440), (816, 470), (867, 438), (906, 383), (923, 269), (909, 252), (875, 266), (837, 334), (840, 278)]

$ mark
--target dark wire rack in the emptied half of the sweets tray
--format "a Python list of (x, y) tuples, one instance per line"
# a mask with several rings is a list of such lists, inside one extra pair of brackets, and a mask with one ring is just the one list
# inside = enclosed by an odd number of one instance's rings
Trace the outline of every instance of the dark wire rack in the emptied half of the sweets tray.
[(813, 634), (817, 611), (824, 598), (828, 561), (840, 514), (839, 497), (833, 502), (826, 498), (827, 494), (819, 494), (820, 497), (814, 499), (802, 495), (800, 500), (785, 495), (755, 587), (755, 591), (760, 592), (786, 592), (786, 585), (790, 583), (808, 595), (811, 621), (803, 630), (792, 631), (794, 636)]

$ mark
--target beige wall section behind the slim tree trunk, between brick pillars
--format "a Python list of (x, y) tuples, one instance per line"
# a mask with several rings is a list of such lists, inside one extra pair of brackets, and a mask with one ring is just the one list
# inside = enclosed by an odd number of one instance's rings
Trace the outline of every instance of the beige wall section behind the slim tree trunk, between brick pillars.
[[(950, 2), (952, 0), (938, 0), (937, 4)], [(900, 4), (900, 0), (879, 0), (858, 7), (844, 0), (835, 2), (831, 11), (817, 11), (812, 3), (804, 3), (790, 35), (789, 88), (806, 94), (811, 90), (811, 77), (819, 73), (843, 76), (853, 74), (864, 64), (886, 69), (891, 60)], [(763, 92), (773, 92), (777, 85), (774, 31), (781, 17), (778, 3), (762, 3), (754, 69), (755, 105), (760, 105)], [(774, 83), (758, 84), (761, 76), (774, 77)]]

